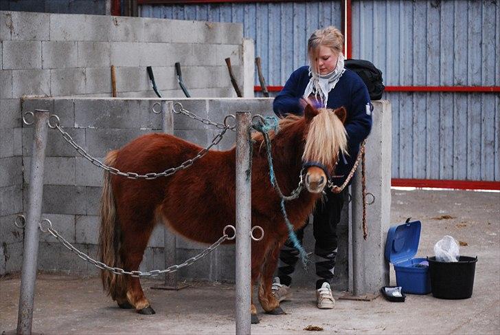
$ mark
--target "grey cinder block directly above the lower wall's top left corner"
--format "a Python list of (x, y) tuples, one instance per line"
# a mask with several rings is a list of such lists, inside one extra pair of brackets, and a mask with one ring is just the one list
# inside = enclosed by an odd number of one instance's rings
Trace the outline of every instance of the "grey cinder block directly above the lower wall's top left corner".
[(21, 96), (50, 96), (50, 70), (12, 71), (12, 98), (21, 98)]

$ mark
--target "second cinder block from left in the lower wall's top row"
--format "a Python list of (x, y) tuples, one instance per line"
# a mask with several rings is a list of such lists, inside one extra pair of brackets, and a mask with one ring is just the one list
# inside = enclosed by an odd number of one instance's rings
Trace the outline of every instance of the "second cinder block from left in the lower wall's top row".
[(82, 128), (137, 129), (141, 124), (137, 105), (134, 100), (122, 99), (75, 100), (75, 125)]

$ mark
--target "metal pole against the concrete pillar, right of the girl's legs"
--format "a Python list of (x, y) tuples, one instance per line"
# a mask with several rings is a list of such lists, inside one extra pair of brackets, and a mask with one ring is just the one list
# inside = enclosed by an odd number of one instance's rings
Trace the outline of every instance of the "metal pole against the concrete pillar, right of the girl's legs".
[(352, 294), (366, 293), (363, 240), (363, 195), (361, 188), (361, 164), (356, 169), (351, 184), (352, 204)]

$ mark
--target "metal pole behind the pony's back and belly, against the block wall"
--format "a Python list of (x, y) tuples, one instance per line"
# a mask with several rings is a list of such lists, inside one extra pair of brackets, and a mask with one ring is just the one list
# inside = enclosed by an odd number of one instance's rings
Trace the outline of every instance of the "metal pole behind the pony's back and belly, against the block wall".
[[(174, 134), (174, 102), (161, 101), (161, 115), (163, 115), (163, 133)], [(177, 262), (177, 240), (175, 235), (168, 230), (163, 229), (163, 255), (165, 257), (165, 266), (171, 266)], [(177, 272), (165, 274), (165, 286), (168, 288), (177, 288)]]

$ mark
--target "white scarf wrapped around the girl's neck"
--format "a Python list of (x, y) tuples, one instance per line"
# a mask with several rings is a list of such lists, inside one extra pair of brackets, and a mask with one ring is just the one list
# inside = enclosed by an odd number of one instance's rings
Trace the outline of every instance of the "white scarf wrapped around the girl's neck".
[(304, 91), (304, 98), (308, 98), (311, 94), (321, 102), (321, 107), (326, 107), (328, 103), (328, 93), (339, 83), (339, 79), (345, 72), (343, 63), (344, 56), (342, 53), (339, 54), (337, 58), (337, 66), (329, 74), (317, 74), (312, 70), (312, 66), (309, 65), (309, 76), (311, 76), (309, 83)]

